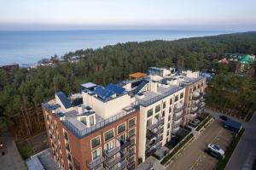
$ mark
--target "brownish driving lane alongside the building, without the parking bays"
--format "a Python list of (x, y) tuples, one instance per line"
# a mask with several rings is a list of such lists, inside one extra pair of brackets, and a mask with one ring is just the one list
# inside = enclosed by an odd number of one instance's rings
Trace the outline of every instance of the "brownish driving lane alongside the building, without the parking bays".
[(193, 167), (201, 156), (202, 150), (206, 148), (207, 144), (212, 143), (218, 137), (222, 129), (223, 127), (220, 125), (220, 122), (214, 120), (166, 169), (188, 170)]

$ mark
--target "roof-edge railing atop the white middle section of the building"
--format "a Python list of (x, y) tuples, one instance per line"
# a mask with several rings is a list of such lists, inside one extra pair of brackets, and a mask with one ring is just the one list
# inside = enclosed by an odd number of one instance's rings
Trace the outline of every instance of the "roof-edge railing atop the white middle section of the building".
[(138, 100), (138, 105), (143, 105), (144, 107), (147, 107), (148, 105), (152, 105), (157, 101), (160, 101), (161, 99), (166, 98), (169, 95), (175, 94), (177, 91), (183, 89), (183, 86), (179, 86), (177, 88), (172, 88), (169, 91), (167, 91), (164, 94), (160, 94), (158, 96), (155, 96), (154, 98), (148, 99), (148, 100), (142, 100), (142, 99), (137, 99)]

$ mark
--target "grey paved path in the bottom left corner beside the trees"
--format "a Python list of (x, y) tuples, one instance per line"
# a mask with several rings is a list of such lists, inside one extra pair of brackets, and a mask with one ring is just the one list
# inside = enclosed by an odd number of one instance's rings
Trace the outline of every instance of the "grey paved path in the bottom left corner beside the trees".
[(25, 162), (20, 157), (15, 141), (9, 133), (3, 134), (3, 151), (5, 155), (0, 156), (0, 169), (4, 170), (26, 170)]

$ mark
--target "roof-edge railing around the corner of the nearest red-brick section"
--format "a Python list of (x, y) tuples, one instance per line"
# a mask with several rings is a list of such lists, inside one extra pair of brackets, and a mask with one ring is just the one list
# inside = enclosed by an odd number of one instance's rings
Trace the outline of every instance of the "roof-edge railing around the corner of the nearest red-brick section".
[(98, 122), (96, 123), (96, 125), (93, 125), (91, 127), (84, 127), (83, 130), (80, 130), (78, 127), (74, 126), (73, 123), (68, 122), (67, 119), (64, 119), (63, 123), (64, 125), (71, 131), (73, 132), (73, 134), (78, 137), (79, 139), (82, 139), (84, 136), (95, 132), (96, 130), (98, 130), (99, 128), (105, 127), (110, 123), (116, 122), (119, 119), (130, 115), (131, 113), (135, 112), (136, 108), (134, 108), (131, 111), (122, 111), (119, 114), (115, 115), (115, 116), (111, 116), (108, 119), (103, 120), (102, 122)]

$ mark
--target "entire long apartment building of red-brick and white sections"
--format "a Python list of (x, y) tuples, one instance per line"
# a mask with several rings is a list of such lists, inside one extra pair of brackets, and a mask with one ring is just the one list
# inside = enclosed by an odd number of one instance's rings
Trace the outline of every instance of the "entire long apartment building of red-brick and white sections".
[(148, 68), (102, 87), (91, 82), (42, 104), (52, 156), (63, 169), (134, 169), (201, 113), (198, 71)]

